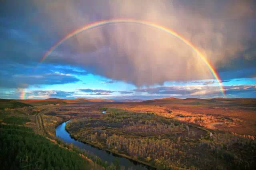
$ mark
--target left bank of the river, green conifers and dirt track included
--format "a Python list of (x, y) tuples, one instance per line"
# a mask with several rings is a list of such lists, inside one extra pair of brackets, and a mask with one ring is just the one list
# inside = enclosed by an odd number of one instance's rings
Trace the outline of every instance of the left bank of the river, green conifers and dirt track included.
[(116, 170), (121, 167), (118, 161), (102, 161), (93, 153), (58, 139), (56, 126), (70, 119), (68, 114), (49, 115), (59, 109), (58, 105), (49, 107), (44, 102), (36, 102), (32, 106), (1, 100), (0, 106), (2, 169)]

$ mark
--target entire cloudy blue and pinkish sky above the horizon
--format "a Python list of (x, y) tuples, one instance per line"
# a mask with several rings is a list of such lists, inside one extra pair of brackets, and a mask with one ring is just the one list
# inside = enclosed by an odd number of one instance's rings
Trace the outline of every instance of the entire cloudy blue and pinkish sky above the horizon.
[[(72, 31), (113, 19), (136, 23)], [(255, 98), (253, 0), (2, 0), (0, 98)]]

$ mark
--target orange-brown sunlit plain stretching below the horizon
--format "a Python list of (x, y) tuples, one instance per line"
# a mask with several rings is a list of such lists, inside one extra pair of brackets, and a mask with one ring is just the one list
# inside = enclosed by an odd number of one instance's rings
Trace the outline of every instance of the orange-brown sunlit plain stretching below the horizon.
[[(100, 107), (125, 109), (135, 112), (153, 112), (164, 117), (172, 117), (180, 121), (194, 123), (209, 129), (228, 131), (240, 135), (256, 136), (256, 99), (254, 98), (164, 98), (147, 100), (144, 102), (115, 102), (108, 99), (46, 99), (46, 100), (18, 100), (19, 102), (31, 105), (65, 105), (65, 107), (80, 105), (88, 109), (86, 112), (98, 112)], [(62, 107), (60, 107), (62, 108)], [(74, 108), (73, 111), (77, 112)], [(82, 109), (84, 110), (84, 108)], [(79, 112), (79, 111), (78, 111)], [(80, 113), (69, 112), (71, 117), (80, 115)]]

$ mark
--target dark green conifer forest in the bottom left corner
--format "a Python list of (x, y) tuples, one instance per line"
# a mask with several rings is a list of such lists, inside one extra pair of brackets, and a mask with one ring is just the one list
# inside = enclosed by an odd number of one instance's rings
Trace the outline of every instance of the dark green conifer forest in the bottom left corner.
[[(22, 117), (20, 117), (22, 116)], [(2, 169), (87, 169), (87, 160), (76, 152), (59, 147), (46, 137), (34, 133), (25, 125), (30, 119), (24, 115), (0, 113), (0, 167)]]

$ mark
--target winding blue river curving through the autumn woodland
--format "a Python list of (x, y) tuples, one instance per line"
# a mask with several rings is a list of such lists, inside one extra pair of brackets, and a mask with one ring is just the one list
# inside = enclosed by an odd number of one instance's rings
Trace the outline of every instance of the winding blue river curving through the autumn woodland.
[(154, 168), (136, 162), (134, 160), (130, 160), (128, 158), (124, 158), (122, 156), (118, 156), (106, 150), (99, 149), (97, 147), (93, 147), (90, 144), (80, 142), (70, 136), (70, 134), (66, 131), (65, 126), (69, 121), (63, 122), (58, 127), (56, 127), (56, 137), (62, 139), (62, 141), (79, 147), (80, 149), (88, 150), (90, 153), (98, 156), (103, 161), (114, 162), (114, 160), (118, 160), (120, 166), (123, 166), (125, 169), (136, 169), (136, 170), (153, 170)]

